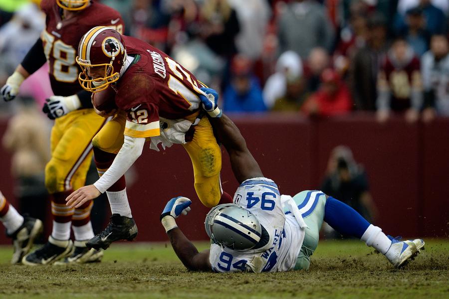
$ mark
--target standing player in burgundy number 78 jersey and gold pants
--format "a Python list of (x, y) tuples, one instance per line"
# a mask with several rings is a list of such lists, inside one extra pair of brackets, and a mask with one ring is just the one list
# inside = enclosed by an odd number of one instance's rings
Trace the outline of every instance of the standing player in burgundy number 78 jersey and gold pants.
[[(48, 242), (23, 257), (26, 265), (64, 262), (94, 262), (103, 256), (90, 250), (86, 240), (94, 234), (90, 222), (92, 205), (76, 209), (65, 205), (73, 190), (84, 186), (92, 157), (91, 140), (106, 123), (92, 109), (91, 93), (78, 83), (80, 68), (75, 62), (76, 48), (85, 31), (96, 25), (123, 30), (123, 20), (116, 10), (91, 0), (42, 0), (46, 28), (40, 38), (1, 88), (5, 101), (13, 100), (23, 80), (45, 62), (54, 96), (47, 99), (43, 112), (55, 119), (51, 133), (51, 159), (45, 167), (45, 185), (51, 195), (53, 230)], [(70, 225), (75, 243), (70, 240)]]

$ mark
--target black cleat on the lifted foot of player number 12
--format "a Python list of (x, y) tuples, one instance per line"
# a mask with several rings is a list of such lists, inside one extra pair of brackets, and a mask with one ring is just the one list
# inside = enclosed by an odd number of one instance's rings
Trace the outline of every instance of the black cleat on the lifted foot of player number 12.
[(137, 236), (137, 226), (133, 218), (113, 214), (111, 222), (104, 231), (86, 242), (88, 248), (107, 249), (112, 242), (118, 240), (132, 241)]

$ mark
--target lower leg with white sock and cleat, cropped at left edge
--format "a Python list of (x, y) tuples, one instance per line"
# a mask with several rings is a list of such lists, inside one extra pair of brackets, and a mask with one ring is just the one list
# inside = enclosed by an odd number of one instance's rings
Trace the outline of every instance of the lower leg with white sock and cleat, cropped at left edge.
[(42, 221), (22, 216), (4, 198), (0, 191), (0, 221), (6, 228), (6, 236), (12, 239), (14, 253), (11, 264), (20, 263), (22, 257), (33, 247), (34, 240), (42, 234)]

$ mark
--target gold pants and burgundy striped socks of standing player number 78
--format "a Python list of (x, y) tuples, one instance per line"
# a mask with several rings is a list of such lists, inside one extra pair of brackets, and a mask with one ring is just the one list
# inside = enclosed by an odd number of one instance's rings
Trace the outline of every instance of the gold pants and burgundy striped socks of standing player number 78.
[(51, 211), (56, 222), (74, 220), (75, 226), (90, 219), (91, 204), (74, 210), (65, 205), (72, 190), (84, 186), (92, 158), (92, 138), (106, 119), (93, 109), (81, 109), (55, 120), (51, 130), (51, 159), (45, 166), (45, 186), (52, 195)]

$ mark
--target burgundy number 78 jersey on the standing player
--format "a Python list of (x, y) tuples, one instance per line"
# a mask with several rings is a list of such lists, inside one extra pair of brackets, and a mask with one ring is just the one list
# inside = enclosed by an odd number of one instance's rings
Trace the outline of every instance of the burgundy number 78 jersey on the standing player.
[(67, 20), (62, 19), (62, 8), (55, 0), (42, 0), (40, 6), (46, 14), (46, 28), (40, 37), (53, 93), (57, 96), (76, 94), (82, 90), (78, 83), (81, 68), (75, 62), (81, 37), (92, 27), (100, 25), (113, 27), (122, 33), (122, 17), (117, 10), (98, 2), (91, 2)]

